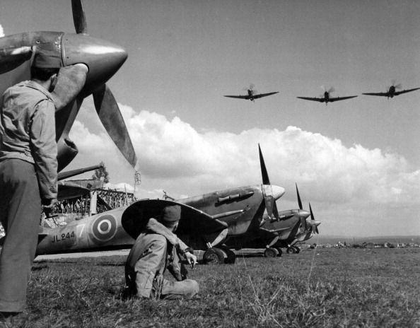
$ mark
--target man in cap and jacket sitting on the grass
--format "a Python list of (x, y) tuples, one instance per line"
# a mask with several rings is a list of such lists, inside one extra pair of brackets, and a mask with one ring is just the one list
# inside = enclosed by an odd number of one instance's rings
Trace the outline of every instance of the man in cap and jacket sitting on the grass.
[[(199, 292), (197, 281), (186, 279), (177, 263), (179, 257), (186, 257), (194, 265), (197, 257), (179, 240), (173, 232), (180, 221), (181, 206), (166, 206), (156, 221), (149, 219), (129, 252), (125, 264), (125, 279), (128, 288), (140, 298), (192, 298)], [(168, 267), (169, 266), (169, 267)], [(163, 279), (166, 268), (177, 281)]]

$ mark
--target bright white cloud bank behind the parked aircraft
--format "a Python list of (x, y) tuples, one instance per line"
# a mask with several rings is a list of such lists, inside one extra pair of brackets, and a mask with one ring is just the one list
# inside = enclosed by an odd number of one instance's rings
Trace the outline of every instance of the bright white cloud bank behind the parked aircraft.
[[(259, 143), (270, 181), (286, 187), (287, 195), (279, 201), (286, 206), (279, 206), (281, 209), (297, 207), (297, 182), (303, 199), (317, 204), (317, 212), (324, 219), (359, 216), (360, 221), (352, 223), (363, 224), (375, 217), (378, 225), (378, 217), (386, 216), (390, 209), (394, 220), (395, 213), (405, 215), (407, 209), (412, 209), (412, 218), (418, 222), (420, 170), (396, 153), (359, 144), (346, 147), (338, 139), (298, 127), (284, 131), (250, 129), (240, 134), (199, 133), (178, 117), (169, 121), (156, 112), (136, 113), (131, 107), (120, 106), (140, 160), (140, 197), (161, 197), (156, 190), (162, 189), (173, 197), (182, 197), (260, 184)], [(104, 160), (113, 183), (133, 185), (133, 171), (105, 131), (92, 134), (76, 121), (71, 139), (78, 146), (78, 158), (83, 158), (83, 163), (91, 165)], [(346, 226), (349, 225), (342, 228)]]

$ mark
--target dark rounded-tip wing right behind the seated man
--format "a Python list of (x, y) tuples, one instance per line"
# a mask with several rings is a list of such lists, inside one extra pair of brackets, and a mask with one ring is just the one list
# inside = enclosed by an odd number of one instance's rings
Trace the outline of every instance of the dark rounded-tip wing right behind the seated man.
[(192, 206), (163, 199), (141, 199), (131, 204), (122, 213), (121, 224), (124, 230), (136, 239), (146, 226), (149, 218), (158, 218), (165, 206), (181, 206), (181, 220), (177, 228), (177, 235), (204, 235), (220, 232), (228, 227), (223, 221), (209, 216), (209, 214), (194, 209)]

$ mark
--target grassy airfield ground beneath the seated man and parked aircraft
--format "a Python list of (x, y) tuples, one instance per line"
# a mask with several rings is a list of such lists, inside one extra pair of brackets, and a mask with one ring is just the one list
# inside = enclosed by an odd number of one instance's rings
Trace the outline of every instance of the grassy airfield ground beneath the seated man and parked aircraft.
[(28, 327), (420, 327), (420, 249), (317, 249), (199, 265), (193, 300), (122, 300), (124, 257), (41, 260)]

